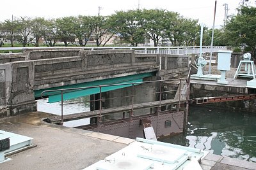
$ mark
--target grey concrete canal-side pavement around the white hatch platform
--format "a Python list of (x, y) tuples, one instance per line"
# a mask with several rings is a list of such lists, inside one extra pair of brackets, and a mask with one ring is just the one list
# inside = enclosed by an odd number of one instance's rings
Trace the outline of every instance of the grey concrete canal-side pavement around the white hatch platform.
[[(0, 129), (33, 138), (36, 147), (8, 156), (1, 169), (84, 169), (132, 143), (134, 139), (84, 131), (42, 121), (33, 112), (0, 119)], [(202, 169), (256, 169), (256, 163), (209, 154)]]

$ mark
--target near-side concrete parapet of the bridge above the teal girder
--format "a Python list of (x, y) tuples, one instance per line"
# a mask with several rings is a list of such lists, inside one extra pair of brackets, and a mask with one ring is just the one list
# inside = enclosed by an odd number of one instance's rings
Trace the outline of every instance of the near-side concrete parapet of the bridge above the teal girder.
[(79, 56), (33, 61), (35, 90), (157, 71), (156, 62), (135, 62), (133, 50), (80, 51)]

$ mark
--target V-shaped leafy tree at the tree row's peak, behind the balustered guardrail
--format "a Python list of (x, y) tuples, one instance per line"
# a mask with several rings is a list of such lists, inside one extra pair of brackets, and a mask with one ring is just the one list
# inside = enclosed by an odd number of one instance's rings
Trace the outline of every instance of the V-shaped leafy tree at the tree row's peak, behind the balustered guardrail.
[(159, 39), (164, 36), (164, 25), (168, 20), (165, 10), (145, 10), (139, 11), (140, 25), (145, 34), (154, 41), (157, 46)]

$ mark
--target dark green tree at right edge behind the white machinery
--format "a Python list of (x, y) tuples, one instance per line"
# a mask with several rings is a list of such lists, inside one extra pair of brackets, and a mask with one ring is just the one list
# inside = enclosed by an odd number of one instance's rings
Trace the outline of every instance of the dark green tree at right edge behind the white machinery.
[(240, 6), (237, 15), (233, 16), (226, 25), (228, 45), (245, 45), (252, 50), (256, 61), (256, 8)]

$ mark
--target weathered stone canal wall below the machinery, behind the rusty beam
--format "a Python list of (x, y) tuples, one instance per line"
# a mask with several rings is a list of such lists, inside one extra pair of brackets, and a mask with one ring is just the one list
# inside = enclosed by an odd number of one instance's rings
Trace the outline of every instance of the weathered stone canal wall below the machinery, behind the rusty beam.
[[(233, 78), (226, 78), (226, 80), (228, 81), (228, 85), (218, 84), (217, 81), (191, 80), (190, 99), (256, 93), (256, 89), (246, 87), (248, 80)], [(241, 110), (256, 113), (256, 99), (211, 103), (207, 105), (225, 108), (227, 110)]]

